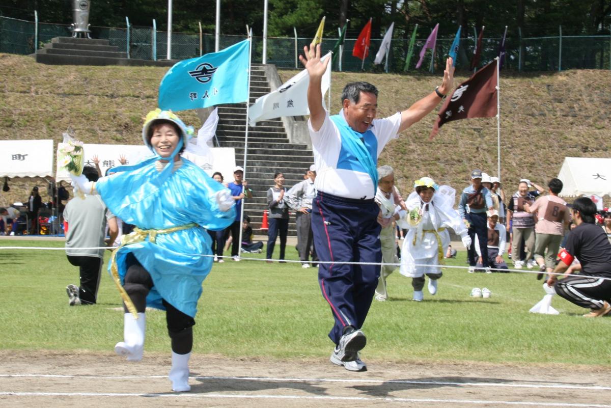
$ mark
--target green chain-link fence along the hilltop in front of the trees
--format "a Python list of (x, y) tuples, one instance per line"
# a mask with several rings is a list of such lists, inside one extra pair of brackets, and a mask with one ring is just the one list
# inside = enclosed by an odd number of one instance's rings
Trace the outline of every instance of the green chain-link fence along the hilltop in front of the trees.
[[(130, 58), (136, 59), (167, 59), (167, 32), (155, 31), (153, 27), (90, 27), (92, 38), (109, 40), (110, 45), (117, 46), (120, 52), (129, 51)], [(33, 21), (16, 20), (0, 16), (0, 52), (12, 54), (32, 54), (51, 42), (54, 37), (69, 37), (70, 26), (64, 24), (38, 24), (38, 44), (36, 42), (36, 23)], [(128, 43), (129, 38), (129, 43)], [(221, 49), (246, 39), (246, 35), (221, 35)], [(305, 45), (312, 38), (269, 37), (267, 39), (268, 64), (279, 68), (301, 67), (296, 56), (302, 53)], [(414, 54), (408, 70), (415, 70), (419, 60), (420, 49), (426, 38), (415, 41)], [(434, 59), (431, 63), (430, 50), (423, 59), (422, 71), (439, 71), (445, 67), (445, 56), (452, 45), (452, 38), (437, 38)], [(323, 40), (323, 53), (331, 51), (337, 38)], [(334, 65), (334, 70), (341, 66), (342, 71), (383, 71), (384, 62), (373, 64), (376, 53), (381, 46), (381, 38), (372, 39), (371, 47), (365, 61), (352, 55), (356, 38), (346, 38), (343, 44), (340, 62)], [(494, 59), (499, 54), (501, 38), (484, 38), (481, 46), (481, 65)], [(409, 47), (409, 38), (392, 40), (388, 58), (389, 72), (405, 71), (405, 59)], [(475, 48), (475, 38), (460, 40), (459, 55), (456, 68), (468, 70)], [(213, 34), (172, 33), (171, 59), (182, 60), (214, 52)], [(508, 37), (505, 42), (504, 68), (514, 71), (558, 71), (569, 69), (611, 69), (611, 37), (592, 36), (562, 36), (521, 38)], [(155, 55), (153, 55), (155, 54)], [(263, 38), (254, 37), (252, 42), (252, 61), (262, 62)]]

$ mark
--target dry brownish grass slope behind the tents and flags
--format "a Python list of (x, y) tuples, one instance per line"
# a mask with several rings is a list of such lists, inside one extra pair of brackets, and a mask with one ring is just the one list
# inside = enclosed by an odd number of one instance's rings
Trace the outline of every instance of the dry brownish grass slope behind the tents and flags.
[[(141, 144), (142, 118), (156, 106), (159, 81), (167, 68), (81, 67), (36, 64), (34, 59), (0, 54), (0, 139), (54, 139), (73, 129), (84, 142)], [(280, 71), (282, 79), (296, 71)], [(455, 84), (467, 77), (460, 73)], [(379, 116), (393, 114), (431, 92), (441, 75), (333, 73), (332, 112), (349, 81), (368, 81), (380, 90)], [(557, 175), (565, 156), (609, 157), (611, 71), (563, 71), (540, 75), (502, 72), (502, 181), (513, 190), (519, 178), (543, 184)], [(194, 126), (194, 112), (180, 116)], [(474, 167), (496, 174), (494, 118), (448, 123), (428, 136), (431, 114), (387, 145), (380, 163), (395, 167), (401, 191), (425, 175), (457, 189)], [(117, 152), (119, 155), (120, 152)], [(42, 183), (40, 183), (42, 186)], [(10, 183), (0, 205), (24, 200), (31, 181)], [(45, 189), (41, 190), (43, 197)]]

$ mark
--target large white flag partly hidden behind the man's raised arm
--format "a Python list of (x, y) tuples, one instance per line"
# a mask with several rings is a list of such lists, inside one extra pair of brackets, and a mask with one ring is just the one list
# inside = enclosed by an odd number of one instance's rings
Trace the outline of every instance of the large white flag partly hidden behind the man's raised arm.
[[(331, 58), (331, 53), (326, 54), (321, 60)], [(249, 125), (255, 126), (260, 120), (273, 119), (281, 116), (301, 116), (309, 115), (310, 109), (307, 106), (307, 87), (310, 84), (310, 76), (307, 70), (303, 70), (293, 78), (284, 82), (278, 89), (258, 98), (249, 107)], [(321, 82), (321, 91), (324, 94), (331, 86), (331, 63), (327, 65), (327, 70)]]

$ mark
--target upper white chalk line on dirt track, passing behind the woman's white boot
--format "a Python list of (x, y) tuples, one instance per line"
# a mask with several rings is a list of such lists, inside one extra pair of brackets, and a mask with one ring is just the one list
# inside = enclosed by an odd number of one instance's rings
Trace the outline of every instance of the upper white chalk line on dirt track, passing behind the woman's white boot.
[[(74, 376), (64, 374), (0, 374), (0, 377), (38, 377), (38, 378), (73, 378), (73, 379), (154, 379), (166, 376)], [(299, 378), (299, 377), (230, 377), (230, 376), (191, 376), (197, 380), (228, 381), (272, 381), (272, 382), (344, 382), (348, 384), (414, 384), (414, 385), (448, 385), (467, 387), (508, 387), (508, 388), (557, 388), (565, 390), (610, 391), (611, 387), (602, 385), (574, 384), (514, 384), (513, 382), (451, 382), (451, 381), (417, 381), (417, 380), (376, 380), (376, 379), (334, 379), (334, 378)], [(537, 382), (547, 382), (536, 380)]]

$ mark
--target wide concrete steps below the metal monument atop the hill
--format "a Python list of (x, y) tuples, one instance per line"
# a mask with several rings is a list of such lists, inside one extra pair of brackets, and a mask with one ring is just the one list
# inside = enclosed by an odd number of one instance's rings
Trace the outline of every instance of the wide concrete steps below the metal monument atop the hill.
[(176, 61), (128, 58), (109, 40), (93, 38), (55, 37), (36, 51), (36, 62), (49, 65), (130, 65), (171, 66)]

